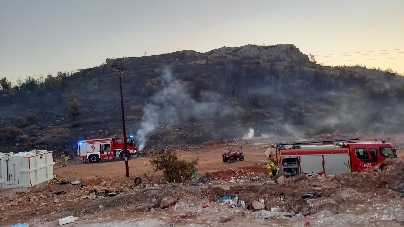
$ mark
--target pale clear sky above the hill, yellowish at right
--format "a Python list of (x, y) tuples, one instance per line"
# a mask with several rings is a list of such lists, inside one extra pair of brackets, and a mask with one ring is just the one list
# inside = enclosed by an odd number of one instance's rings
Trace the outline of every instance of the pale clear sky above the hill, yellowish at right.
[(404, 73), (403, 8), (403, 0), (0, 0), (0, 77), (246, 44), (295, 44), (315, 57), (390, 50), (316, 60)]

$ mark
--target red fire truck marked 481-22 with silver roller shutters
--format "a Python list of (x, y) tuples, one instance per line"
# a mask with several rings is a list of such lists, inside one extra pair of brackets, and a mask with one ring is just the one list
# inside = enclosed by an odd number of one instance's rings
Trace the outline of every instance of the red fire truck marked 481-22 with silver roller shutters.
[[(280, 171), (295, 174), (360, 172), (386, 158), (397, 158), (396, 149), (383, 141), (357, 142), (358, 138), (276, 143)], [(328, 144), (327, 144), (328, 143)]]

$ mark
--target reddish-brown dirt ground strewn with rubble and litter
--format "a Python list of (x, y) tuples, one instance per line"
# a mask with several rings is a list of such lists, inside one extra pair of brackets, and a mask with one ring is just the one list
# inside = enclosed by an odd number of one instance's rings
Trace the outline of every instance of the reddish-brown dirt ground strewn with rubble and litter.
[[(372, 137), (372, 136), (370, 136)], [(399, 137), (396, 147), (403, 147)], [(292, 138), (290, 140), (295, 140)], [(394, 143), (394, 142), (391, 142)], [(404, 221), (404, 198), (393, 189), (404, 183), (404, 161), (387, 162), (378, 169), (361, 173), (343, 173), (326, 178), (313, 178), (292, 183), (263, 186), (266, 181), (267, 139), (235, 140), (204, 143), (178, 151), (182, 159), (199, 158), (198, 180), (192, 185), (167, 184), (153, 175), (151, 157), (129, 160), (130, 177), (125, 177), (125, 162), (103, 160), (87, 164), (71, 159), (67, 167), (55, 164), (54, 172), (62, 180), (81, 180), (82, 185), (49, 185), (36, 191), (0, 189), (0, 226), (25, 222), (30, 226), (58, 226), (58, 219), (69, 215), (79, 219), (65, 226), (400, 226)], [(227, 148), (243, 146), (245, 160), (224, 163), (221, 154)], [(404, 150), (398, 151), (404, 158)], [(56, 160), (57, 161), (57, 160)], [(134, 177), (142, 177), (147, 187), (159, 189), (142, 192), (130, 188)], [(239, 182), (231, 183), (234, 177)], [(255, 181), (254, 178), (261, 179)], [(284, 212), (301, 214), (260, 218), (254, 210), (231, 208), (217, 200), (226, 194), (238, 201), (250, 201), (263, 187), (256, 200), (263, 201), (265, 210), (280, 208)], [(95, 189), (97, 198), (89, 199)], [(108, 197), (108, 192), (118, 192)], [(305, 193), (313, 198), (302, 199)], [(177, 202), (161, 209), (160, 201), (172, 196)], [(203, 204), (210, 204), (202, 208)], [(251, 208), (251, 207), (250, 207)]]

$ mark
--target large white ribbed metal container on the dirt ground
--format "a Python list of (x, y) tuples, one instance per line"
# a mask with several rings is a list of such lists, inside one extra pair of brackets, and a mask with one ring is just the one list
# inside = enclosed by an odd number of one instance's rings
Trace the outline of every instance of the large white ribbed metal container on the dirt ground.
[(53, 152), (0, 153), (0, 188), (38, 189), (55, 178)]

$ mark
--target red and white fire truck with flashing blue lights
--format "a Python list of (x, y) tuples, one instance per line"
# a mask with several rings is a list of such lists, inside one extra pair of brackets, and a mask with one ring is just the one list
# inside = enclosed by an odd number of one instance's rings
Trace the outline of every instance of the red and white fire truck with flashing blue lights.
[[(77, 143), (77, 155), (90, 163), (97, 163), (102, 158), (119, 157), (121, 160), (125, 160), (123, 142), (123, 137), (80, 141)], [(136, 153), (136, 144), (133, 141), (133, 136), (126, 138), (126, 148), (131, 156)]]

